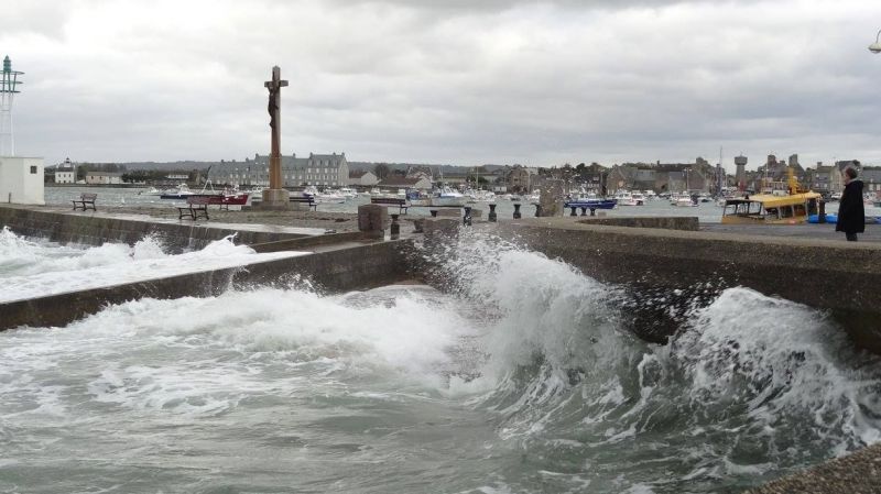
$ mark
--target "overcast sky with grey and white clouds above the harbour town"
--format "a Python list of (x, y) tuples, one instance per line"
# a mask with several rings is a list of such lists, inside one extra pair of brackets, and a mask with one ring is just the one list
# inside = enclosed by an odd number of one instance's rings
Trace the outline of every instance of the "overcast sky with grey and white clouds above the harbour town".
[(0, 0), (15, 151), (74, 162), (881, 165), (877, 0)]

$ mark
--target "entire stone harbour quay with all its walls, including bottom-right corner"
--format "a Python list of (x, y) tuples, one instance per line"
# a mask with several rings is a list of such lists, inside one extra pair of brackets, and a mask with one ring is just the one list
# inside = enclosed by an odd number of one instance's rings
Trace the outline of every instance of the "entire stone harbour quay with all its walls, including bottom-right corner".
[[(418, 221), (401, 221), (399, 217), (400, 232), (393, 235), (384, 208), (366, 210), (377, 215), (367, 221), (359, 215), (267, 211), (246, 217), (246, 212), (226, 216), (213, 210), (211, 220), (194, 222), (122, 208), (72, 212), (51, 207), (2, 206), (0, 224), (22, 235), (59, 243), (99, 245), (160, 234), (173, 249), (186, 250), (235, 233), (237, 243), (248, 244), (257, 252), (293, 250), (307, 255), (2, 303), (0, 329), (64, 326), (109, 304), (142, 297), (215, 296), (232, 286), (293, 283), (333, 294), (415, 281), (443, 289), (443, 281), (426, 275), (433, 267), (426, 264), (431, 257), (417, 254), (415, 244), (431, 249), (433, 243), (452, 242), (471, 231), (513, 241), (620, 287), (621, 303), (637, 316), (630, 329), (649, 341), (664, 342), (695, 303), (709, 300), (728, 287), (744, 286), (827, 310), (857, 345), (881, 351), (877, 343), (881, 321), (877, 308), (881, 307), (881, 299), (873, 289), (881, 275), (877, 263), (881, 243), (875, 241), (874, 231), (867, 230), (861, 240), (868, 241), (855, 244), (834, 240), (828, 227), (794, 227), (788, 230), (791, 233), (769, 228), (714, 230), (688, 217), (526, 218), (475, 221), (470, 227), (463, 226), (460, 217)], [(370, 227), (361, 228), (365, 224)], [(811, 238), (811, 231), (826, 238)], [(772, 322), (768, 330), (774, 331)], [(877, 446), (864, 448), (754, 492), (875, 492), (874, 485), (881, 479), (873, 465), (880, 459), (881, 449)], [(804, 479), (815, 479), (813, 485), (823, 490), (802, 488)]]

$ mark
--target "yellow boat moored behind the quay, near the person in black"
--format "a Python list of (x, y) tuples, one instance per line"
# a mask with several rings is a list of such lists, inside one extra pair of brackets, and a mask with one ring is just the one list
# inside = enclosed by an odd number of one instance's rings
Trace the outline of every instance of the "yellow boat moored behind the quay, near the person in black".
[(785, 187), (774, 187), (782, 182), (769, 183), (762, 194), (726, 200), (722, 224), (797, 224), (816, 215), (822, 196), (800, 187), (792, 168), (787, 173)]

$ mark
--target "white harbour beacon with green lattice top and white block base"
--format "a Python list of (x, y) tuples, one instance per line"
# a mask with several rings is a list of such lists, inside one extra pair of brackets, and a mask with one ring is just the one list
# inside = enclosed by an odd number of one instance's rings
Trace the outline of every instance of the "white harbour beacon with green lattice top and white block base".
[(9, 56), (3, 58), (0, 73), (0, 202), (44, 205), (43, 158), (15, 154), (12, 132), (12, 102), (21, 92), (21, 76), (12, 69)]

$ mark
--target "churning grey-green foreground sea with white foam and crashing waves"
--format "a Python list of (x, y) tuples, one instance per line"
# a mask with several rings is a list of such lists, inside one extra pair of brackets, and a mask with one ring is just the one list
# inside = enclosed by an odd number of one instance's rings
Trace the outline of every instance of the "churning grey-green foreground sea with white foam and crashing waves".
[(0, 333), (0, 491), (740, 492), (881, 439), (881, 365), (822, 312), (731, 288), (656, 345), (564, 263), (468, 233), (432, 255), (444, 293)]

